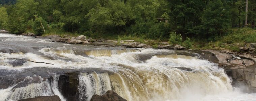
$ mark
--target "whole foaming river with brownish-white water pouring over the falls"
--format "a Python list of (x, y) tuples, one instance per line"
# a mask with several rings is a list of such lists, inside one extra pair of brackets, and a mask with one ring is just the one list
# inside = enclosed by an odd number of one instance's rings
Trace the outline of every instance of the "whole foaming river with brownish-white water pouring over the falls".
[(61, 88), (67, 73), (77, 73), (68, 77), (77, 81), (74, 98), (79, 101), (107, 90), (128, 101), (256, 101), (255, 93), (232, 87), (224, 69), (197, 53), (64, 44), (0, 33), (0, 101), (52, 95), (70, 100)]

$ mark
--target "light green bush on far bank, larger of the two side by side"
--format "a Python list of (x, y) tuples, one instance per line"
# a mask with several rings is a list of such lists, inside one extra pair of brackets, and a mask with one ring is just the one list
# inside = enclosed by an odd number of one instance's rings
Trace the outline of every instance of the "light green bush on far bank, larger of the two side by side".
[(170, 33), (170, 39), (169, 39), (169, 43), (171, 45), (176, 45), (176, 44), (180, 44), (182, 42), (182, 37), (180, 34), (176, 34), (174, 32)]

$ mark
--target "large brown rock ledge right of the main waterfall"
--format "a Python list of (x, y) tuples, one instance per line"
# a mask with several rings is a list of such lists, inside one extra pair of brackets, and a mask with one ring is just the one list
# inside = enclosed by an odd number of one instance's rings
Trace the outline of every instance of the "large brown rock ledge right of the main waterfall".
[[(256, 92), (256, 56), (232, 52), (206, 50), (212, 54), (204, 54), (211, 58), (210, 61), (218, 63), (224, 68), (228, 76), (233, 79), (234, 86), (245, 86), (246, 92)], [(202, 53), (201, 53), (202, 54)], [(214, 56), (214, 57), (212, 57)]]

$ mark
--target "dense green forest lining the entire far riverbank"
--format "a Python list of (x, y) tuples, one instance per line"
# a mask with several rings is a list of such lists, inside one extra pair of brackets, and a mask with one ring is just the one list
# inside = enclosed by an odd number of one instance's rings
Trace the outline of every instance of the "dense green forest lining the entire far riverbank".
[[(214, 41), (232, 27), (254, 28), (256, 0), (1, 0), (0, 28), (37, 35), (52, 31), (89, 37), (130, 35)], [(15, 4), (12, 4), (16, 2)], [(244, 24), (247, 16), (247, 24)]]

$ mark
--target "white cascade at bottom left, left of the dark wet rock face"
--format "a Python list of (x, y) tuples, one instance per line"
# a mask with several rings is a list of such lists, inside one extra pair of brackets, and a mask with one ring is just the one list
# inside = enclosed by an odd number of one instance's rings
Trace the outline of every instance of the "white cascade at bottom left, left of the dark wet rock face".
[[(23, 83), (27, 79), (33, 79), (33, 78), (26, 77), (22, 82), (19, 82), (19, 83)], [(58, 91), (58, 79), (59, 79), (59, 76), (54, 75), (52, 82), (50, 82), (48, 79), (43, 80), (43, 78), (41, 78), (39, 83), (31, 83), (25, 87), (16, 87), (17, 85), (19, 85), (18, 83), (7, 89), (2, 89), (0, 91), (4, 92), (3, 93), (4, 95), (3, 95), (3, 99), (1, 98), (0, 101), (5, 101), (5, 100), (17, 101), (21, 99), (34, 98), (37, 96), (53, 96), (53, 95), (58, 95), (62, 101), (65, 101), (65, 98)]]

